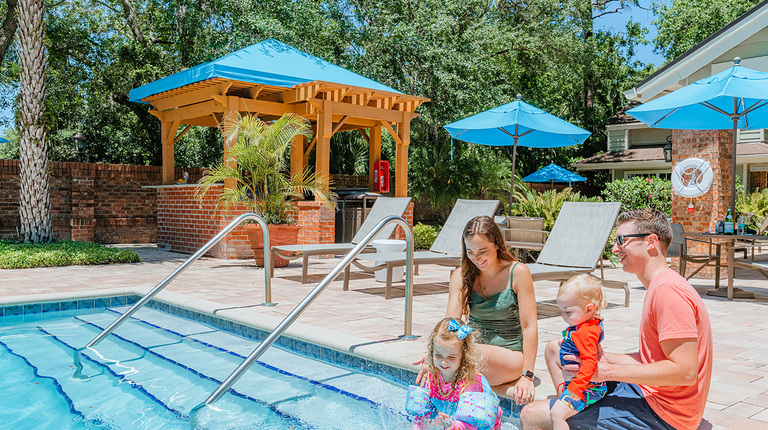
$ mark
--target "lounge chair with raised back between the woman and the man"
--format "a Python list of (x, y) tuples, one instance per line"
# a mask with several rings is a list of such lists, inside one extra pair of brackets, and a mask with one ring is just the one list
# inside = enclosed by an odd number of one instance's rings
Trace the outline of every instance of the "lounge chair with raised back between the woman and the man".
[(566, 281), (581, 273), (592, 273), (600, 263), (600, 277), (607, 288), (624, 290), (624, 306), (629, 306), (626, 282), (604, 278), (602, 255), (621, 209), (618, 202), (565, 202), (539, 258), (528, 264), (534, 281)]

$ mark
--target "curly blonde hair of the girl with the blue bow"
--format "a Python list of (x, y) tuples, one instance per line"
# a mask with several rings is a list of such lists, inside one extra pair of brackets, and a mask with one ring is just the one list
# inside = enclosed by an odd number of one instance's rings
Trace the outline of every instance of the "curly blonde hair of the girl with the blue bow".
[[(464, 339), (458, 338), (457, 331), (451, 331), (448, 328), (448, 323), (453, 318), (442, 319), (432, 333), (429, 335), (429, 343), (427, 344), (427, 364), (429, 366), (429, 373), (432, 375), (433, 380), (438, 380), (438, 372), (434, 360), (435, 341), (441, 342), (459, 342), (461, 345), (461, 363), (456, 371), (456, 375), (451, 382), (451, 390), (456, 388), (456, 385), (460, 383), (462, 391), (475, 382), (477, 378), (477, 363), (480, 360), (480, 351), (477, 348), (477, 330), (472, 330)], [(459, 320), (457, 320), (459, 321)], [(461, 321), (459, 321), (461, 322)], [(461, 324), (464, 324), (461, 322)], [(447, 382), (447, 381), (446, 381)]]

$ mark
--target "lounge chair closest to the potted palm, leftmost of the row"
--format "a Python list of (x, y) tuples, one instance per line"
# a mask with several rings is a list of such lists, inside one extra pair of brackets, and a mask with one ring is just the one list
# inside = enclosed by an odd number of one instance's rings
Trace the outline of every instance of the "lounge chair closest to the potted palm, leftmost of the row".
[[(395, 215), (402, 216), (405, 210), (408, 208), (408, 204), (411, 202), (410, 197), (379, 197), (373, 204), (371, 211), (363, 221), (360, 229), (352, 238), (351, 243), (316, 243), (309, 245), (285, 245), (285, 246), (273, 246), (271, 247), (272, 259), (275, 261), (275, 256), (279, 256), (286, 260), (295, 260), (303, 258), (301, 264), (301, 283), (307, 283), (307, 269), (309, 267), (309, 257), (313, 255), (344, 255), (347, 254), (352, 248), (355, 247), (364, 237), (367, 235), (376, 224), (382, 219)], [(388, 224), (385, 226), (379, 234), (376, 235), (377, 239), (388, 239), (389, 236), (395, 231), (397, 226), (395, 224)], [(373, 247), (366, 248), (368, 252), (373, 252)], [(275, 275), (274, 264), (270, 267), (270, 276)]]

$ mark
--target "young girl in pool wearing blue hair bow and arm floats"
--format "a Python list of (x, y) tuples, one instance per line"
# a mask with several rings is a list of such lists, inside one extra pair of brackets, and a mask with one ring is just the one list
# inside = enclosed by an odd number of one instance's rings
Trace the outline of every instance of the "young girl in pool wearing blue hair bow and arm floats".
[(445, 318), (429, 337), (425, 387), (411, 386), (406, 410), (416, 429), (498, 429), (501, 409), (485, 377), (477, 372), (480, 354), (472, 328)]

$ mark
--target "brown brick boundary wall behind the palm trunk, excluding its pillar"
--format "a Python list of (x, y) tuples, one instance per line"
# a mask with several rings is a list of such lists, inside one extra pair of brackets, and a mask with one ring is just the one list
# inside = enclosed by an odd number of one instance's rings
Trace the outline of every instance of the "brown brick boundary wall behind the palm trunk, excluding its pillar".
[[(54, 236), (100, 243), (157, 240), (157, 196), (142, 188), (162, 181), (159, 166), (50, 162)], [(202, 169), (176, 168), (197, 181)], [(19, 160), (0, 160), (0, 238), (17, 238)]]

